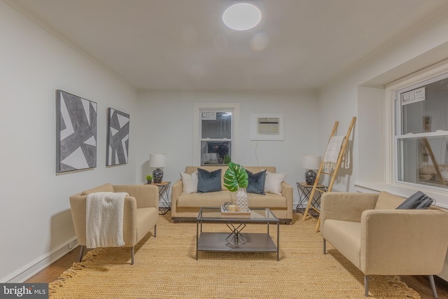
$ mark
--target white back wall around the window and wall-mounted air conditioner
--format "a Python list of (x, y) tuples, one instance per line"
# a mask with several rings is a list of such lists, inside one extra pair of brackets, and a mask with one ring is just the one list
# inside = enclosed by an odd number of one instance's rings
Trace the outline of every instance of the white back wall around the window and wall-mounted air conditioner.
[[(286, 172), (286, 181), (298, 199), (297, 181), (304, 181), (302, 154), (320, 153), (317, 146), (318, 102), (314, 92), (141, 92), (139, 95), (139, 139), (137, 177), (151, 173), (150, 153), (167, 153), (165, 181), (177, 181), (179, 172), (193, 165), (193, 105), (200, 102), (239, 103), (239, 148), (242, 165), (276, 167)], [(284, 141), (251, 141), (251, 113), (283, 113)], [(197, 120), (199, 121), (199, 120)], [(256, 157), (258, 157), (258, 160)]]

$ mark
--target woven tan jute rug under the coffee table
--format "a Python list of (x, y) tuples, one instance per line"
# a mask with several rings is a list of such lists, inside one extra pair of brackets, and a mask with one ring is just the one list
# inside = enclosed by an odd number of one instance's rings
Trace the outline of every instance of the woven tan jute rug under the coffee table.
[[(94, 249), (81, 263), (50, 283), (50, 298), (365, 298), (364, 276), (314, 232), (315, 219), (280, 226), (280, 260), (276, 253), (200, 252), (196, 224), (172, 223), (159, 216), (157, 237), (150, 232), (136, 246)], [(205, 223), (204, 231), (228, 230)], [(265, 232), (265, 224), (246, 232)], [(270, 225), (276, 242), (276, 225)], [(370, 298), (420, 298), (399, 277), (370, 277)]]

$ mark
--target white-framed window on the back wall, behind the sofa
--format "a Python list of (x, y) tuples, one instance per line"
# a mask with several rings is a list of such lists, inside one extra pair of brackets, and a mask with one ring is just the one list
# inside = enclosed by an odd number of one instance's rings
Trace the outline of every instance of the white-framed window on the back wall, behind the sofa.
[(195, 165), (225, 165), (235, 148), (237, 104), (195, 104)]

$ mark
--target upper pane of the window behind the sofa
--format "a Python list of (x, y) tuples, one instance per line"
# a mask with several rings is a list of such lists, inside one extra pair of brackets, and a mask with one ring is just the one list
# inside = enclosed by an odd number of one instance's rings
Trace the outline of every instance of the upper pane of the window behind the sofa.
[(232, 113), (201, 112), (201, 138), (231, 139)]

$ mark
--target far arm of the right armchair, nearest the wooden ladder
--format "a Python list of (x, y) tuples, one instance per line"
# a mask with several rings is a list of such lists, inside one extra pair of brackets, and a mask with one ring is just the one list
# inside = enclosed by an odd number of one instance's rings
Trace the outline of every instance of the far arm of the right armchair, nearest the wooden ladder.
[(366, 209), (374, 209), (378, 193), (323, 193), (321, 197), (321, 228), (325, 219), (360, 222)]

